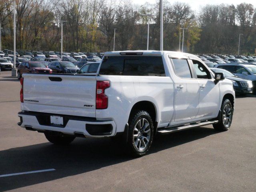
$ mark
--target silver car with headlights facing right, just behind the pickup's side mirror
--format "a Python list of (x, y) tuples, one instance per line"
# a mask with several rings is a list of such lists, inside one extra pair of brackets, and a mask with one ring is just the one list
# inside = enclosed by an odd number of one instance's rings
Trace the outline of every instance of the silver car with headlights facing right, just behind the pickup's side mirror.
[(225, 78), (230, 79), (236, 94), (246, 95), (252, 93), (252, 81), (238, 78), (234, 74), (221, 68), (210, 68), (214, 73), (223, 73)]

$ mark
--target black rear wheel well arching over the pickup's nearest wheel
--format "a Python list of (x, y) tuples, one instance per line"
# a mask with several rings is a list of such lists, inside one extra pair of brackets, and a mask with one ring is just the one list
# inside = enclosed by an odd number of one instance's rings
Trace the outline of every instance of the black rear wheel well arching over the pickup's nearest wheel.
[(153, 124), (154, 124), (154, 134), (156, 133), (156, 128), (157, 128), (157, 121), (156, 121), (156, 108), (154, 104), (150, 101), (140, 101), (134, 104), (132, 107), (132, 110), (130, 112), (129, 119), (131, 118), (132, 112), (134, 110), (144, 110), (148, 112), (152, 118)]

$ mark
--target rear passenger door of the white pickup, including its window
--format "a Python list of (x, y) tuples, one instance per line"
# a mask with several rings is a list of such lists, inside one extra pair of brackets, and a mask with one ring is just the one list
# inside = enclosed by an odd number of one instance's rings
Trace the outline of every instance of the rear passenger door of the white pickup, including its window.
[[(188, 58), (170, 58), (174, 69), (174, 122), (194, 119), (199, 107), (199, 84)], [(173, 120), (172, 120), (173, 121)]]

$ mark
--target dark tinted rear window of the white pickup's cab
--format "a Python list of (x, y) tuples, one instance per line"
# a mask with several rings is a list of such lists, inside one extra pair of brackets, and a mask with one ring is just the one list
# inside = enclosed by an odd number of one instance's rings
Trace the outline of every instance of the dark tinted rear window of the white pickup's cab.
[(102, 75), (165, 76), (160, 56), (107, 56), (100, 67)]

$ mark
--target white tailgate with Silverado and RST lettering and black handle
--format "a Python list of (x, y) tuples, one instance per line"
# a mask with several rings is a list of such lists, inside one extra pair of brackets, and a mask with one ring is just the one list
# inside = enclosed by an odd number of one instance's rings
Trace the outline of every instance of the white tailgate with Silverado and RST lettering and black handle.
[(96, 76), (23, 74), (23, 77), (22, 110), (95, 117)]

